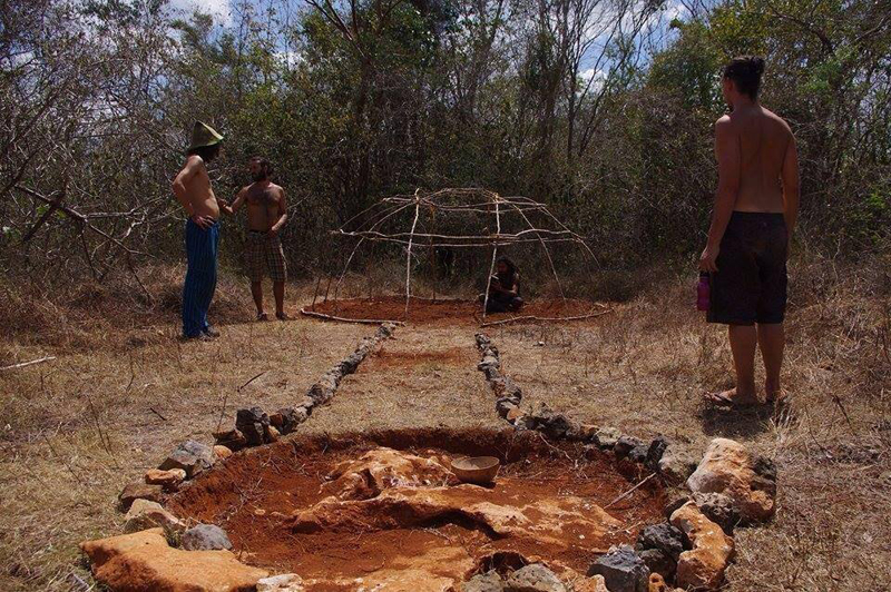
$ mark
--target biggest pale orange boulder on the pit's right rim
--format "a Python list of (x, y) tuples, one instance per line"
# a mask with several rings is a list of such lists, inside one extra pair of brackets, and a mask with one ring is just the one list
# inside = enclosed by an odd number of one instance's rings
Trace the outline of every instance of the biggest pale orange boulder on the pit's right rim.
[(761, 522), (775, 512), (776, 481), (768, 468), (738, 442), (719, 437), (708, 445), (687, 486), (695, 493), (723, 493), (733, 501), (743, 522)]

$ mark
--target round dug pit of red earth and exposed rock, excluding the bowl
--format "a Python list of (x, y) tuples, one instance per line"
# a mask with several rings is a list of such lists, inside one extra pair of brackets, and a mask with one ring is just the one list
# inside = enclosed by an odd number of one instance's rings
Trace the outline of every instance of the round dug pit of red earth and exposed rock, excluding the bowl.
[[(495, 484), (460, 483), (449, 467), (462, 455), (499, 457)], [(658, 480), (621, 497), (634, 484), (611, 455), (533, 432), (298, 435), (219, 463), (167, 507), (222, 526), (243, 562), (300, 574), (310, 591), (448, 591), (535, 561), (580, 578), (663, 521)]]

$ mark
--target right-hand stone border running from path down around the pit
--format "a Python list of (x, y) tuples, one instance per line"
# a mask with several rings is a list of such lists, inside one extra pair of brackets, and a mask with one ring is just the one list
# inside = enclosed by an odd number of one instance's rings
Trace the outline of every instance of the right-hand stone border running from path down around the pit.
[(666, 485), (686, 489), (666, 505), (666, 522), (645, 527), (634, 547), (610, 549), (590, 566), (587, 575), (598, 578), (607, 592), (681, 591), (666, 582), (675, 582), (683, 589), (718, 590), (735, 553), (734, 527), (773, 517), (776, 495), (773, 462), (750, 454), (732, 440), (714, 438), (696, 463), (662, 435), (646, 443), (614, 427), (579, 424), (544, 403), (523, 413), (522, 389), (501, 372), (498, 347), (483, 333), (476, 334), (476, 342), (482, 355), (477, 369), (486, 375), (496, 395), (498, 415), (516, 430), (533, 430), (551, 440), (584, 442), (611, 453), (617, 463), (628, 460), (652, 472), (611, 503), (655, 476)]

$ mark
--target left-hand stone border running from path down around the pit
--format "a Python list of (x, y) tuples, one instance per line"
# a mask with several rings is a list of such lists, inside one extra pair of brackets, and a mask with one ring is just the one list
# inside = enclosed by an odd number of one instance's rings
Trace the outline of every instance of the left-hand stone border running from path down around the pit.
[[(161, 502), (165, 494), (178, 491), (179, 486), (214, 466), (218, 460), (224, 460), (233, 454), (233, 451), (243, 450), (252, 446), (262, 446), (276, 442), (281, 435), (293, 432), (300, 424), (306, 422), (315, 407), (329, 403), (340, 386), (344, 376), (353, 374), (359, 365), (371, 354), (371, 352), (384, 339), (390, 338), (396, 325), (384, 323), (370, 337), (363, 337), (355, 349), (327, 371), (322, 378), (313, 384), (303, 399), (296, 407), (284, 407), (272, 415), (267, 415), (261, 407), (243, 408), (236, 412), (235, 427), (227, 431), (215, 432), (214, 440), (216, 445), (213, 447), (200, 442), (188, 440), (179, 444), (158, 466), (149, 470), (145, 475), (145, 483), (130, 483), (118, 497), (119, 510), (126, 512), (123, 536), (104, 539), (99, 541), (87, 541), (80, 544), (81, 551), (92, 561), (94, 573), (102, 570), (104, 565), (111, 559), (109, 553), (104, 550), (105, 544), (115, 546), (117, 541), (126, 536), (149, 536), (146, 533), (164, 533), (168, 541), (176, 541), (177, 546), (185, 551), (215, 551), (224, 553), (206, 561), (224, 562), (227, 565), (235, 565), (238, 571), (239, 562), (234, 555), (225, 555), (232, 549), (225, 531), (212, 524), (197, 524), (187, 529), (187, 524), (166, 510)], [(155, 529), (154, 531), (151, 529)], [(157, 537), (156, 537), (157, 539)], [(158, 545), (158, 553), (165, 554), (168, 551), (179, 550), (175, 547), (164, 547), (161, 540), (153, 539), (151, 544)], [(140, 539), (140, 544), (144, 541)], [(127, 546), (127, 543), (120, 543)], [(202, 561), (204, 556), (187, 555), (189, 570), (199, 573), (204, 578)], [(209, 558), (209, 555), (208, 555)], [(177, 561), (186, 561), (177, 560)], [(214, 565), (207, 564), (210, 572)], [(252, 571), (253, 570), (253, 571)], [(114, 570), (111, 570), (114, 571)], [(241, 575), (265, 573), (264, 570), (256, 570), (244, 565)], [(273, 576), (266, 582), (261, 579), (257, 582), (257, 590), (266, 590), (272, 585), (281, 585), (285, 580), (294, 584), (294, 590), (302, 590), (298, 586), (300, 578), (295, 574), (283, 574)], [(198, 585), (198, 584), (196, 584)], [(202, 588), (198, 585), (198, 588)]]

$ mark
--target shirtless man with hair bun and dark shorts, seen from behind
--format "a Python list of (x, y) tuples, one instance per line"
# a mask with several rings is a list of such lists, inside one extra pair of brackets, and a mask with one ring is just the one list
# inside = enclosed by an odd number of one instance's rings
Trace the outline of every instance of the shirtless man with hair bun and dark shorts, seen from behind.
[(780, 403), (786, 259), (799, 214), (795, 138), (758, 103), (764, 60), (735, 58), (722, 90), (732, 110), (715, 124), (718, 188), (699, 269), (712, 278), (709, 323), (728, 326), (736, 388), (711, 394), (713, 403), (758, 404), (755, 349), (761, 348), (768, 404)]

